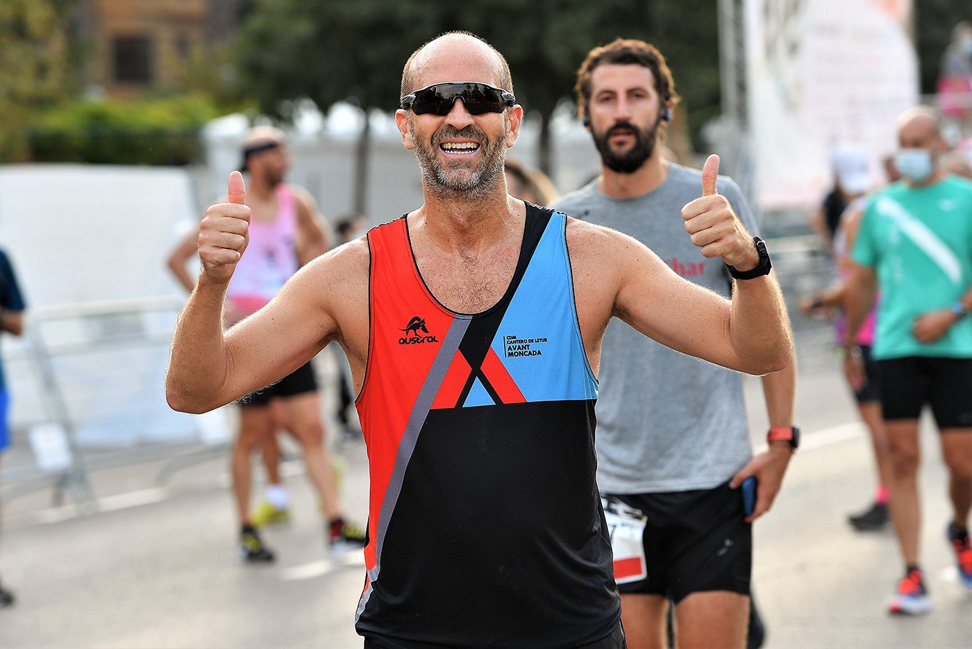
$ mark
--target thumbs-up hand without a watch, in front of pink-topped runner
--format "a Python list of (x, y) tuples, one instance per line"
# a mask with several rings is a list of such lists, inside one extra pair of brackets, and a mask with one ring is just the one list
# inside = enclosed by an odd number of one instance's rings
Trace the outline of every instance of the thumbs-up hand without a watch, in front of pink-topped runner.
[(239, 171), (229, 174), (226, 196), (228, 202), (210, 205), (199, 224), (199, 261), (203, 274), (215, 283), (229, 281), (249, 241), (250, 208), (243, 203), (246, 193)]

